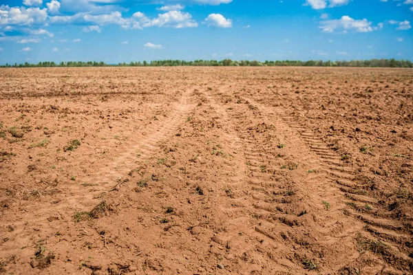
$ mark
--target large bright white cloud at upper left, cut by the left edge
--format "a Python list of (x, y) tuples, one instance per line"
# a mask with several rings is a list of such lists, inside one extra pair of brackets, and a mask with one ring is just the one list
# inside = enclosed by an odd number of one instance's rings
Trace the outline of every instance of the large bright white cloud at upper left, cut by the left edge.
[(47, 9), (0, 6), (0, 25), (34, 25), (47, 20)]

